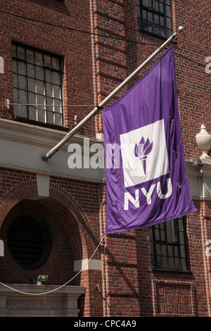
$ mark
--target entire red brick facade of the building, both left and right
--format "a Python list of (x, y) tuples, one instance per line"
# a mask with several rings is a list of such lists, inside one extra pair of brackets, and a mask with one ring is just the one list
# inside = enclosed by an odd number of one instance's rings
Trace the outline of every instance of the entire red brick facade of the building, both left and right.
[[(195, 139), (200, 125), (211, 130), (211, 74), (205, 72), (205, 58), (211, 56), (210, 3), (204, 0), (196, 6), (190, 0), (173, 0), (172, 6), (174, 30), (179, 25), (185, 28), (174, 44), (174, 53), (184, 154), (190, 163), (200, 157)], [(1, 119), (15, 120), (13, 105), (5, 107), (5, 99), (13, 104), (11, 43), (15, 41), (63, 56), (63, 104), (73, 105), (64, 107), (64, 127), (68, 130), (75, 126), (75, 115), (84, 118), (163, 42), (138, 30), (135, 0), (1, 1), (0, 20), (0, 56), (4, 58)], [(78, 132), (91, 138), (100, 133), (101, 114)], [(194, 176), (198, 176), (197, 170)], [(103, 180), (83, 177), (83, 170), (78, 180), (71, 174), (60, 175), (58, 169), (57, 175), (50, 175), (49, 196), (37, 199), (33, 169), (1, 165), (0, 239), (5, 252), (0, 257), (0, 282), (29, 284), (37, 275), (48, 274), (46, 284), (63, 285), (77, 273), (74, 261), (91, 257), (106, 227), (106, 186)], [(198, 211), (187, 218), (191, 271), (153, 270), (148, 228), (108, 235), (93, 256), (101, 261), (101, 270), (83, 270), (69, 284), (86, 287), (79, 298), (79, 316), (210, 316), (211, 265), (205, 242), (211, 237), (211, 203), (209, 196), (193, 199)], [(39, 213), (51, 227), (51, 254), (39, 270), (18, 266), (6, 245), (11, 218), (25, 209)]]

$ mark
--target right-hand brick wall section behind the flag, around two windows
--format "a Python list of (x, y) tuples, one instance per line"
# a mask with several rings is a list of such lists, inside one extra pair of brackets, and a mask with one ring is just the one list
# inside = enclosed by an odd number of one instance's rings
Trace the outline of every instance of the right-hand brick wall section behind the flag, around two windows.
[[(163, 40), (144, 32), (136, 25), (136, 1), (91, 1), (95, 32), (96, 82), (101, 101), (150, 56)], [(179, 92), (181, 133), (186, 160), (200, 156), (195, 135), (205, 123), (210, 130), (210, 77), (205, 73), (205, 58), (210, 44), (209, 4), (202, 1), (172, 1), (174, 30), (184, 32), (174, 44)], [(133, 42), (132, 42), (133, 41)], [(142, 77), (155, 58), (127, 88)], [(118, 97), (117, 96), (117, 97)], [(102, 130), (99, 116), (99, 130)], [(210, 312), (209, 258), (205, 257), (205, 237), (210, 237), (210, 206), (195, 201), (198, 211), (188, 216), (187, 232), (191, 273), (153, 272), (148, 246), (148, 230), (136, 230), (106, 238), (104, 279), (108, 296), (106, 312), (110, 316), (207, 316)], [(203, 217), (201, 208), (205, 204)], [(206, 212), (205, 212), (206, 210)], [(152, 286), (153, 282), (153, 286)], [(165, 285), (165, 282), (167, 285)], [(173, 283), (172, 283), (173, 282)], [(164, 286), (165, 285), (165, 286)], [(198, 301), (199, 300), (199, 301)]]

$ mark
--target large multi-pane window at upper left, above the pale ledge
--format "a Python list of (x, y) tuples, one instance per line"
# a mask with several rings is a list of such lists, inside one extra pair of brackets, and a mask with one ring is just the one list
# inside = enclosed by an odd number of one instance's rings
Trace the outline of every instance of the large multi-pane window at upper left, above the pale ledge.
[(63, 126), (61, 58), (22, 44), (12, 47), (14, 115)]

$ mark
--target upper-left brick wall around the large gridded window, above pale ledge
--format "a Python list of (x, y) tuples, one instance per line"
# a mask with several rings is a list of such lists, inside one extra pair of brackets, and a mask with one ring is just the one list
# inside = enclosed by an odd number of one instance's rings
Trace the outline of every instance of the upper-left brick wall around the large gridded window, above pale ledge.
[[(4, 75), (0, 77), (0, 115), (13, 119), (13, 106), (6, 111), (5, 99), (13, 104), (13, 75), (11, 42), (19, 42), (37, 49), (63, 56), (64, 124), (72, 129), (74, 116), (84, 118), (94, 107), (89, 1), (5, 1), (1, 11), (1, 56)], [(79, 132), (84, 135), (84, 129)], [(86, 125), (86, 135), (95, 137), (95, 120)]]

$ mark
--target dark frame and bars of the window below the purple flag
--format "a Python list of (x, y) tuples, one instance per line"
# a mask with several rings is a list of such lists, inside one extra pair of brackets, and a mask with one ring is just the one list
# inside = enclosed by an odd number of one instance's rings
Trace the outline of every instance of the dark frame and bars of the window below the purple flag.
[[(182, 229), (179, 225), (179, 220), (182, 223)], [(171, 227), (172, 230), (174, 229), (174, 235), (172, 237), (176, 237), (175, 241), (169, 242), (167, 240), (167, 227)], [(163, 228), (162, 228), (163, 227)], [(160, 230), (164, 231), (165, 239), (161, 240), (156, 237), (156, 230), (160, 232)], [(172, 231), (173, 232), (173, 231)], [(180, 235), (181, 234), (181, 235)], [(184, 243), (181, 243), (181, 237), (183, 235)], [(161, 236), (160, 236), (161, 237)], [(157, 245), (160, 245), (160, 250), (163, 251), (166, 249), (167, 254), (158, 254)], [(151, 264), (153, 270), (166, 270), (166, 271), (174, 271), (174, 272), (181, 272), (181, 273), (188, 273), (190, 272), (189, 269), (189, 258), (188, 258), (188, 237), (186, 232), (186, 216), (181, 218), (176, 218), (174, 220), (168, 220), (164, 223), (158, 223), (157, 225), (153, 225), (150, 227), (150, 246), (151, 246)], [(183, 246), (183, 252), (181, 252), (181, 246)], [(162, 249), (163, 247), (163, 249)], [(172, 252), (174, 252), (174, 247), (177, 248), (178, 255), (174, 256), (174, 253), (170, 255), (170, 248)], [(158, 263), (158, 256), (160, 256), (161, 263)], [(164, 260), (166, 258), (167, 266), (164, 266)], [(179, 261), (179, 268), (177, 268), (175, 261), (173, 262), (174, 268), (170, 266), (170, 258), (172, 261), (178, 259)], [(186, 268), (182, 266), (182, 260), (185, 262)]]

